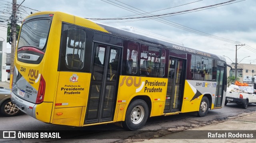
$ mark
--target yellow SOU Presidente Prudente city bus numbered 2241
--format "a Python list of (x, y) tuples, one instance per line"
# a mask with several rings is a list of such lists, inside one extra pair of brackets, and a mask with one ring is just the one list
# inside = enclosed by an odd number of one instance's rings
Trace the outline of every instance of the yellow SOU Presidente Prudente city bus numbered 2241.
[(224, 107), (224, 57), (128, 29), (62, 12), (31, 14), (18, 38), (12, 101), (46, 123), (119, 122), (129, 130), (148, 117), (203, 117)]

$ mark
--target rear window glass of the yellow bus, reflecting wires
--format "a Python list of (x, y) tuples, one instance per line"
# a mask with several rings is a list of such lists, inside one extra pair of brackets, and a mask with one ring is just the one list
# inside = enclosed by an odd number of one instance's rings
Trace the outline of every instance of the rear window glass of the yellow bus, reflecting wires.
[(34, 46), (43, 49), (46, 45), (50, 29), (50, 19), (40, 19), (26, 22), (22, 25), (18, 48)]

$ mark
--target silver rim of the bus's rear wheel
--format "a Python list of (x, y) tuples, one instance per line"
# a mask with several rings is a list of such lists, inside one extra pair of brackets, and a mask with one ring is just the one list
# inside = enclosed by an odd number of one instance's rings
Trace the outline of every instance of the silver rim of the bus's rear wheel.
[(142, 106), (136, 106), (133, 108), (131, 113), (131, 121), (134, 124), (138, 124), (144, 118), (145, 112)]

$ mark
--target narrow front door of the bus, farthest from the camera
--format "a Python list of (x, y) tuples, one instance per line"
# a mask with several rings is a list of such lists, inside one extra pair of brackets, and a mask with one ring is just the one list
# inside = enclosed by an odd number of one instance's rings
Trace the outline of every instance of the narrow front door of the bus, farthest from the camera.
[(217, 84), (216, 84), (214, 108), (221, 107), (221, 104), (222, 104), (224, 81), (225, 81), (224, 76), (225, 76), (225, 67), (217, 66), (217, 76), (216, 76)]

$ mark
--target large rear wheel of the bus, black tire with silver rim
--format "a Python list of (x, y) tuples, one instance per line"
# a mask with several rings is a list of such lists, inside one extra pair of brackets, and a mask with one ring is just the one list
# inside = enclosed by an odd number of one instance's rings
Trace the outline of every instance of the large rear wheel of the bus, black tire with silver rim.
[(138, 130), (142, 128), (148, 119), (148, 105), (144, 100), (134, 100), (127, 108), (125, 121), (122, 122), (124, 128), (128, 130)]

